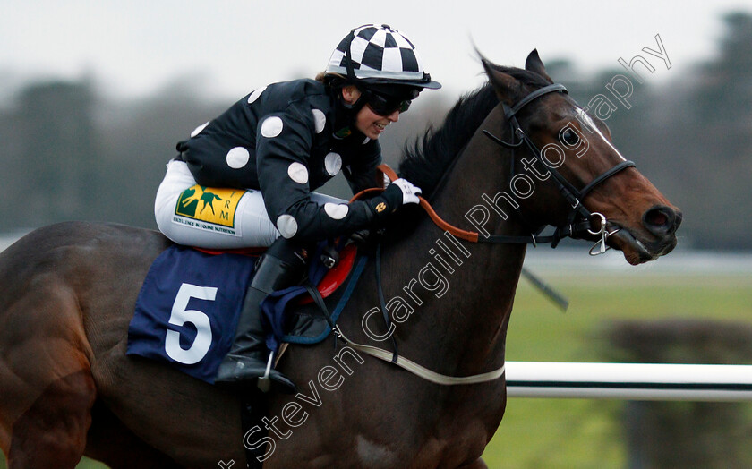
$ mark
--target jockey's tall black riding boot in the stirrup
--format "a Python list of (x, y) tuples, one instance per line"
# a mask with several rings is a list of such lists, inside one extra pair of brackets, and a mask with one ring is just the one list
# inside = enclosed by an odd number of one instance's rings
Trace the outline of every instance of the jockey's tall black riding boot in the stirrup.
[[(235, 329), (235, 342), (219, 364), (217, 383), (245, 383), (259, 379), (259, 388), (268, 390), (269, 384), (278, 391), (295, 393), (295, 383), (272, 367), (261, 327), (261, 300), (275, 290), (292, 286), (303, 277), (305, 252), (284, 238), (278, 238), (261, 256), (251, 286), (245, 294), (243, 310)], [(269, 382), (269, 379), (271, 382)]]

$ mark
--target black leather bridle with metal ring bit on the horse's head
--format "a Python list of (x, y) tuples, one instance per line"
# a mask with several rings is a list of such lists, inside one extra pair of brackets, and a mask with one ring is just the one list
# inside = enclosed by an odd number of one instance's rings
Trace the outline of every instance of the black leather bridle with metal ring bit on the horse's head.
[[(635, 163), (632, 161), (622, 161), (620, 164), (611, 167), (611, 169), (595, 177), (593, 181), (591, 181), (590, 183), (587, 183), (585, 187), (579, 190), (574, 185), (572, 185), (572, 183), (569, 183), (567, 179), (563, 175), (561, 175), (560, 172), (555, 167), (543, 165), (543, 163), (541, 162), (543, 160), (543, 152), (540, 149), (538, 149), (534, 141), (532, 141), (530, 137), (526, 134), (526, 132), (522, 130), (522, 127), (520, 126), (519, 122), (517, 122), (517, 113), (523, 107), (526, 107), (526, 105), (533, 102), (535, 99), (541, 98), (549, 93), (554, 93), (554, 92), (567, 93), (567, 89), (564, 87), (564, 85), (560, 83), (551, 84), (539, 90), (534, 90), (525, 98), (520, 99), (517, 102), (517, 104), (515, 104), (513, 107), (508, 107), (506, 104), (502, 103), (502, 106), (504, 109), (505, 120), (508, 122), (509, 127), (511, 129), (511, 134), (512, 134), (512, 139), (513, 139), (511, 142), (503, 141), (499, 137), (493, 135), (491, 132), (487, 130), (483, 130), (483, 134), (489, 137), (491, 141), (498, 143), (499, 145), (501, 145), (502, 147), (506, 149), (512, 150), (510, 179), (514, 178), (514, 176), (517, 175), (517, 171), (515, 168), (514, 151), (516, 149), (521, 148), (523, 145), (525, 145), (528, 151), (532, 153), (535, 157), (533, 160), (533, 164), (531, 166), (534, 166), (534, 165), (541, 166), (541, 168), (543, 169), (543, 172), (539, 172), (538, 174), (543, 175), (545, 173), (550, 173), (551, 175), (553, 175), (553, 182), (556, 184), (557, 189), (559, 190), (561, 195), (564, 197), (564, 199), (568, 201), (569, 206), (572, 207), (567, 217), (567, 223), (563, 226), (557, 226), (556, 229), (554, 230), (553, 235), (545, 236), (545, 237), (538, 237), (536, 239), (536, 236), (540, 235), (540, 233), (545, 228), (545, 226), (541, 226), (537, 230), (535, 230), (534, 233), (531, 233), (530, 237), (532, 238), (532, 240), (526, 241), (526, 243), (533, 243), (534, 245), (537, 243), (551, 243), (551, 247), (556, 247), (556, 245), (560, 242), (562, 238), (565, 238), (568, 236), (577, 238), (580, 235), (585, 235), (585, 232), (586, 232), (590, 235), (600, 235), (601, 237), (601, 240), (598, 243), (595, 243), (593, 248), (591, 248), (590, 254), (591, 255), (602, 254), (603, 252), (606, 251), (606, 239), (610, 235), (613, 235), (614, 233), (619, 231), (619, 228), (614, 229), (613, 231), (609, 232), (606, 227), (608, 225), (608, 221), (606, 220), (606, 217), (603, 216), (601, 213), (597, 213), (597, 212), (591, 213), (589, 210), (585, 209), (585, 206), (583, 205), (582, 200), (585, 200), (585, 197), (587, 196), (587, 194), (593, 191), (593, 189), (596, 186), (606, 181), (612, 175), (616, 175), (621, 170), (627, 169), (628, 167), (631, 167), (631, 166), (635, 166)], [(515, 142), (515, 139), (517, 139), (516, 142)], [(539, 170), (540, 168), (535, 168), (535, 169)], [(515, 200), (515, 202), (517, 202), (517, 200)], [(522, 214), (519, 212), (520, 212), (519, 204), (517, 203), (517, 213), (520, 215), (520, 217), (522, 217)], [(582, 220), (579, 221), (578, 223), (575, 223), (575, 218), (577, 217), (577, 215), (580, 215), (582, 217)], [(600, 228), (598, 230), (591, 229), (591, 219), (593, 219), (594, 217), (601, 218)], [(515, 241), (516, 238), (518, 238), (518, 236), (491, 235), (485, 239), (479, 239), (478, 241), (483, 242), (483, 243), (518, 243), (518, 241)]]

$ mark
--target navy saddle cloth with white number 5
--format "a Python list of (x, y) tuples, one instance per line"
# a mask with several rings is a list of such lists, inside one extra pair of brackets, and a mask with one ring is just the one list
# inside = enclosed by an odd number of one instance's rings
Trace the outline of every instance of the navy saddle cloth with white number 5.
[[(313, 285), (318, 285), (328, 271), (319, 261), (322, 246), (309, 270)], [(141, 286), (128, 328), (126, 354), (167, 362), (194, 378), (213, 383), (235, 337), (256, 259), (243, 254), (200, 252), (181, 245), (167, 248), (154, 260)], [(329, 296), (331, 320), (336, 321), (344, 309), (365, 260), (355, 260), (344, 290), (338, 288)], [(261, 303), (270, 350), (276, 351), (282, 342), (316, 344), (329, 336), (329, 322), (320, 312), (292, 308), (308, 294), (303, 286), (293, 286), (270, 294)]]

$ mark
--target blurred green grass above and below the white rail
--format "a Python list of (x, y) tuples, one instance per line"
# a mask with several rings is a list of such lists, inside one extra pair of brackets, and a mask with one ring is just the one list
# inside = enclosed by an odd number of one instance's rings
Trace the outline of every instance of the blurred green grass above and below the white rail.
[[(569, 310), (556, 311), (522, 280), (508, 330), (510, 361), (604, 362), (604, 356), (613, 355), (604, 334), (613, 320), (752, 324), (752, 271), (543, 272), (568, 296)], [(748, 413), (750, 406), (744, 405)], [(617, 400), (510, 398), (484, 459), (494, 468), (629, 467), (624, 412), (625, 402)], [(752, 413), (748, 417), (746, 467), (752, 466)]]

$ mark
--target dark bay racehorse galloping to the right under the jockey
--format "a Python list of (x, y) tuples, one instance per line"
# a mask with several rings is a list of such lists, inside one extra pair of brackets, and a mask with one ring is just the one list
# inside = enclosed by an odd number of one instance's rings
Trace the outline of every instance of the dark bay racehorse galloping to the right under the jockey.
[[(525, 69), (482, 62), (489, 82), (400, 166), (441, 217), (482, 241), (532, 241), (538, 226), (559, 226), (630, 264), (673, 249), (679, 209), (553, 84), (536, 51)], [(291, 346), (279, 369), (299, 393), (269, 395), (261, 439), (242, 430), (242, 397), (126, 356), (141, 283), (169, 245), (146, 229), (69, 222), (0, 254), (0, 448), (11, 468), (73, 468), (82, 455), (114, 468), (236, 468), (244, 445), (261, 447), (269, 468), (485, 467), (506, 405), (503, 376), (440, 386), (335, 348), (334, 337)], [(526, 241), (452, 241), (422, 213), (397, 217), (380, 270), (399, 354), (457, 377), (499, 369), (525, 253)], [(338, 327), (383, 345), (373, 335), (386, 336), (384, 324), (363, 321), (380, 303), (375, 269), (369, 260)]]

